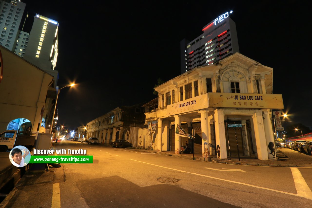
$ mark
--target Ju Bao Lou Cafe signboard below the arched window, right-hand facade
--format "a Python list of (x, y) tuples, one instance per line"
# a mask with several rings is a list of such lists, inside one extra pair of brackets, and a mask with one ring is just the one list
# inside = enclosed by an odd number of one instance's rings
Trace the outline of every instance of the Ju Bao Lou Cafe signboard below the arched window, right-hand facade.
[(208, 92), (209, 107), (284, 109), (281, 94)]

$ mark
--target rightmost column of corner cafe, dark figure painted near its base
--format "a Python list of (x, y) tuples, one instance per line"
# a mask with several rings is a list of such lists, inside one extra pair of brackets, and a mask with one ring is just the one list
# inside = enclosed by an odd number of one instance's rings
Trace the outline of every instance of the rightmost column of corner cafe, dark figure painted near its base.
[[(269, 159), (276, 160), (276, 151), (274, 146), (274, 136), (273, 136), (273, 129), (272, 129), (272, 123), (271, 123), (271, 112), (270, 111), (263, 111), (263, 125), (264, 125), (264, 131), (266, 135), (266, 148), (268, 151), (268, 157)], [(272, 142), (272, 143), (270, 143)], [(271, 145), (269, 145), (271, 144)]]

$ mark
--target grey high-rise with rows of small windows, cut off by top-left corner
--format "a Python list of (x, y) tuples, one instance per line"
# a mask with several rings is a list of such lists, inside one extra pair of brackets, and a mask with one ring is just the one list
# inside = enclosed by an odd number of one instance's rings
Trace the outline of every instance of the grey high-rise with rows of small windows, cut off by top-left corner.
[(20, 1), (0, 0), (0, 45), (10, 51), (15, 50), (16, 37), (20, 32), (18, 27), (22, 22), (25, 6)]

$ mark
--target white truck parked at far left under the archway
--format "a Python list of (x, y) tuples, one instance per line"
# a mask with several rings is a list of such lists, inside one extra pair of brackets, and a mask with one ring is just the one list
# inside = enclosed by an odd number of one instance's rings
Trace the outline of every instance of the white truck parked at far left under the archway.
[(6, 152), (15, 146), (26, 146), (30, 151), (35, 145), (36, 131), (7, 130), (0, 134), (0, 152)]

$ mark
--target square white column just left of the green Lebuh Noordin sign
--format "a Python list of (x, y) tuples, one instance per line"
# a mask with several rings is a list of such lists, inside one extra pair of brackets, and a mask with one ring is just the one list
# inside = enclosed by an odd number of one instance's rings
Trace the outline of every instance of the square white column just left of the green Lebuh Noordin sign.
[(214, 111), (215, 129), (216, 129), (216, 145), (218, 159), (227, 159), (227, 144), (224, 129), (224, 113), (222, 109)]

